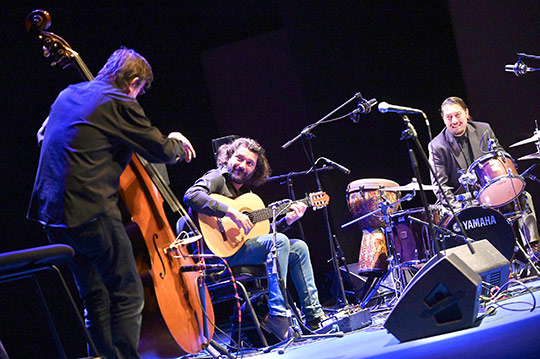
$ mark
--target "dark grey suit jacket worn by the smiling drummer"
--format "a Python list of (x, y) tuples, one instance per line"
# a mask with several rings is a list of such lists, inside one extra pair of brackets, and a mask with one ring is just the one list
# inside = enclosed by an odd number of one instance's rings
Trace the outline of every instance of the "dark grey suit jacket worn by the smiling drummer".
[[(499, 141), (495, 137), (495, 133), (493, 133), (493, 130), (488, 123), (469, 121), (467, 124), (467, 134), (471, 143), (474, 160), (477, 160), (487, 153), (487, 134), (489, 134), (490, 139), (495, 141), (496, 149), (504, 151), (499, 145)], [(463, 186), (458, 181), (461, 175), (458, 171), (463, 170), (466, 172), (468, 169), (461, 146), (445, 127), (441, 133), (429, 143), (428, 149), (429, 163), (439, 179), (440, 184), (453, 187), (453, 190), (444, 190), (450, 205), (454, 208), (460, 207), (459, 203), (454, 199), (454, 194), (464, 192)], [(430, 174), (431, 183), (437, 185), (431, 171)], [(439, 202), (446, 205), (446, 201), (440, 190), (436, 190), (435, 195)]]

